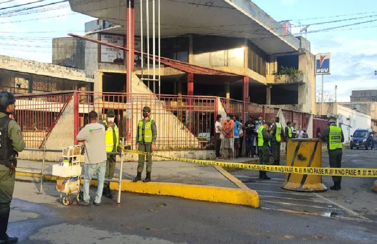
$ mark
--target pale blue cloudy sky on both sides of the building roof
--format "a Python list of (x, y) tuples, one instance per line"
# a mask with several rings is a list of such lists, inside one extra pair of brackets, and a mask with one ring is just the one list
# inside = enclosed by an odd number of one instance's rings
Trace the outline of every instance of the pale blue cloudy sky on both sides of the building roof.
[[(4, 9), (36, 1), (38, 0), (0, 0), (1, 55), (50, 63), (52, 38), (64, 37), (68, 32), (84, 34), (84, 23), (95, 19), (72, 12), (68, 3), (45, 7), (57, 8), (53, 11), (18, 16), (14, 16), (17, 13), (4, 14), (7, 11), (53, 3), (58, 0), (40, 0), (41, 2), (32, 5)], [(290, 20), (293, 24), (293, 33), (299, 32), (300, 24), (313, 24), (308, 28), (308, 31), (313, 31), (376, 20), (336, 31), (308, 33), (307, 38), (311, 41), (313, 54), (331, 53), (331, 75), (324, 77), (325, 94), (333, 95), (335, 85), (337, 85), (337, 101), (347, 102), (350, 100), (351, 90), (377, 89), (377, 75), (374, 75), (374, 70), (377, 70), (377, 5), (375, 0), (357, 2), (354, 0), (253, 0), (253, 2), (277, 21)], [(355, 15), (359, 13), (366, 14)], [(347, 16), (331, 17), (338, 15)], [(316, 24), (366, 16), (370, 17)], [(350, 28), (353, 29), (350, 30)], [(317, 77), (316, 90), (319, 89), (321, 89), (321, 76)]]

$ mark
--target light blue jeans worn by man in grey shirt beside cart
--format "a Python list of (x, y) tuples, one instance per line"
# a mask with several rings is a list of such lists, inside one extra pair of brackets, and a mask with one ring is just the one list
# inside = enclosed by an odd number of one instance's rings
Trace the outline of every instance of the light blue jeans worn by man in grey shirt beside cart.
[(85, 164), (85, 175), (84, 175), (84, 201), (89, 203), (89, 185), (92, 180), (93, 173), (97, 173), (98, 186), (95, 202), (101, 203), (103, 183), (105, 181), (105, 172), (106, 172), (106, 160), (99, 164)]

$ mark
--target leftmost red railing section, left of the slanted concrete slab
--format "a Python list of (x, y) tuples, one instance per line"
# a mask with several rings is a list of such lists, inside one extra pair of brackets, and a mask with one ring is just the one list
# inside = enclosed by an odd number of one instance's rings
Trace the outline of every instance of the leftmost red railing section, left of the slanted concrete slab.
[(16, 95), (16, 117), (26, 147), (40, 148), (71, 101), (73, 91)]

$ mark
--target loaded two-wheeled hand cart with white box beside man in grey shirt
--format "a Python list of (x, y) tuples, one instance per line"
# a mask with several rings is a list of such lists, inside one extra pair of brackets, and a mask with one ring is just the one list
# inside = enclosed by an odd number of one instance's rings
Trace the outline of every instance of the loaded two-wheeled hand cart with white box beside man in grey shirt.
[[(63, 148), (63, 162), (52, 167), (52, 174), (62, 179), (56, 180), (56, 189), (60, 192), (60, 202), (64, 206), (73, 204), (72, 193), (76, 193), (76, 200), (79, 202), (81, 182), (81, 151), (82, 145), (72, 145)], [(63, 197), (63, 194), (65, 196)]]

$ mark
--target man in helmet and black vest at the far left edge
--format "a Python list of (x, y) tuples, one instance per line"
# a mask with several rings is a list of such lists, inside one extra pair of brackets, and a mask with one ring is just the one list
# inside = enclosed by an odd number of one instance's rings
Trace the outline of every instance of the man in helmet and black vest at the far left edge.
[(25, 148), (20, 126), (9, 118), (16, 99), (10, 92), (0, 92), (0, 243), (16, 243), (17, 237), (7, 235), (10, 205), (13, 196), (16, 155)]

